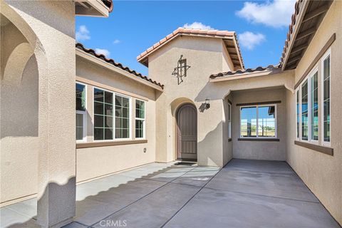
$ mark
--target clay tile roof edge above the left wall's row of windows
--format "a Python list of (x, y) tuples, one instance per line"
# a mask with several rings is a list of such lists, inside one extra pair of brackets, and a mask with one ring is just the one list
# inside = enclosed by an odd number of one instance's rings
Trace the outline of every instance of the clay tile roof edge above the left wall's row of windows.
[(93, 55), (93, 56), (95, 56), (97, 58), (100, 58), (103, 61), (106, 61), (107, 63), (112, 64), (113, 66), (121, 68), (124, 71), (127, 71), (128, 73), (133, 74), (134, 76), (137, 76), (137, 77), (142, 78), (142, 79), (144, 79), (144, 80), (146, 80), (146, 81), (148, 81), (150, 83), (153, 83), (153, 84), (155, 84), (157, 86), (160, 86), (161, 88), (164, 88), (164, 85), (162, 85), (160, 83), (157, 83), (157, 81), (152, 81), (151, 78), (147, 78), (147, 76), (142, 76), (141, 73), (133, 71), (130, 68), (128, 68), (127, 66), (123, 66), (123, 64), (121, 64), (121, 63), (115, 63), (115, 61), (112, 58), (105, 58), (105, 56), (103, 54), (98, 54), (93, 49), (85, 48), (82, 43), (76, 43), (76, 48), (78, 48), (78, 49), (80, 49), (82, 51), (85, 51), (86, 53), (90, 53), (91, 55)]

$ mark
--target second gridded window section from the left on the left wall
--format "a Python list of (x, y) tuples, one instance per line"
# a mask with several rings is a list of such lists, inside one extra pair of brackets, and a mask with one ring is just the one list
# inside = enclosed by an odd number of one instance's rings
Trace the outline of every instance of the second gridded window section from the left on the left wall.
[(94, 88), (94, 140), (113, 140), (113, 93)]

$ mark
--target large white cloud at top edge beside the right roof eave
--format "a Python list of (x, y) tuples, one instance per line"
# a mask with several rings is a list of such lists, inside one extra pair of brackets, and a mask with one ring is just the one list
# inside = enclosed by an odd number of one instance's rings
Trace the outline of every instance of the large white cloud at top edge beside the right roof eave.
[(296, 0), (266, 1), (264, 4), (246, 1), (244, 7), (237, 11), (237, 16), (253, 23), (265, 24), (271, 27), (289, 26), (294, 13)]

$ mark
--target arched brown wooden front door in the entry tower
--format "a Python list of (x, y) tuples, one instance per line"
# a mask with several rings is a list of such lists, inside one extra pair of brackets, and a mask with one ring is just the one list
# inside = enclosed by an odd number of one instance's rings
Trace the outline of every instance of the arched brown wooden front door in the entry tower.
[(177, 110), (177, 159), (197, 161), (197, 110), (189, 103)]

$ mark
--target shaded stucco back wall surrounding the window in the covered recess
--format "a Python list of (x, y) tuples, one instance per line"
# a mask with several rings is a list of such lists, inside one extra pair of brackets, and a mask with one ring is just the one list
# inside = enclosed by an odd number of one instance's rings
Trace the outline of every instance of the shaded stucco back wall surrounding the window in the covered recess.
[[(237, 90), (232, 93), (233, 157), (255, 160), (286, 160), (286, 88)], [(238, 141), (240, 137), (239, 103), (259, 103), (280, 100), (276, 103), (276, 138), (279, 142)]]

